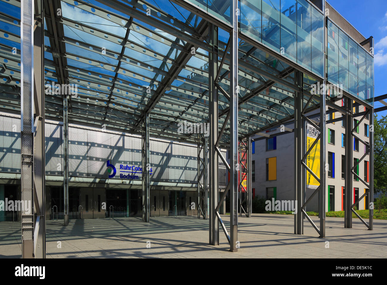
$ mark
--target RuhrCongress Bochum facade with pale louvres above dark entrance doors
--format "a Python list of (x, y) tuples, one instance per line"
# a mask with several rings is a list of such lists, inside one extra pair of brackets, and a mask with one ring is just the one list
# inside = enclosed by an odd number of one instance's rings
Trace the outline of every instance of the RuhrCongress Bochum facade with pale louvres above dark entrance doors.
[[(46, 216), (63, 219), (63, 124), (47, 120), (45, 136)], [(21, 200), (20, 147), (20, 116), (0, 114), (0, 200)], [(70, 124), (68, 151), (70, 219), (142, 216), (139, 136)], [(151, 217), (197, 215), (190, 207), (197, 203), (197, 145), (151, 138), (150, 153)], [(219, 187), (225, 183), (220, 161)], [(0, 221), (20, 215), (0, 211)]]

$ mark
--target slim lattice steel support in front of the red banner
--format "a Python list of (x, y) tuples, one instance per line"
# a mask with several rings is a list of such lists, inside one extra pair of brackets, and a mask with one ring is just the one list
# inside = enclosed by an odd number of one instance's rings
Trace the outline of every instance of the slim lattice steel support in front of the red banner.
[[(242, 216), (243, 211), (247, 218), (250, 218), (252, 214), (251, 147), (250, 136), (246, 140), (239, 140), (239, 214)], [(245, 180), (246, 186), (243, 184)], [(243, 208), (245, 202), (246, 211)]]

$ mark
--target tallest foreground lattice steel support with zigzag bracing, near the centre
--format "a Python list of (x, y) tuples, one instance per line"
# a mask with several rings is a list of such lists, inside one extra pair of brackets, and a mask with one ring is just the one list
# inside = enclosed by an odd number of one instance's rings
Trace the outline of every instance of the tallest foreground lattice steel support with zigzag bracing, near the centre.
[[(233, 9), (236, 11), (237, 2), (233, 1)], [(209, 243), (212, 245), (219, 245), (219, 223), (226, 235), (226, 238), (230, 245), (230, 251), (238, 251), (238, 169), (240, 168), (238, 163), (238, 24), (236, 13), (233, 14), (233, 30), (230, 32), (229, 45), (224, 50), (222, 60), (218, 66), (218, 28), (210, 24), (209, 26), (209, 42), (212, 45), (213, 50), (209, 54), (209, 82), (214, 82), (214, 85), (209, 84), (209, 110), (210, 110), (210, 235)], [(224, 60), (228, 53), (228, 47), (230, 47), (230, 93), (228, 94), (219, 86), (219, 80), (221, 80), (220, 71), (224, 64)], [(218, 109), (218, 90), (229, 100), (229, 112), (226, 119), (223, 122), (223, 126), (219, 132), (219, 109)], [(223, 132), (229, 121), (229, 147), (230, 147), (230, 165), (226, 162), (226, 159), (221, 154), (219, 149), (219, 143), (221, 141)], [(218, 185), (218, 155), (223, 161), (224, 165), (230, 173), (230, 181), (224, 190), (220, 199), (219, 197), (219, 185)], [(223, 201), (230, 190), (230, 233), (228, 233), (226, 226), (221, 219), (219, 209), (223, 204)]]

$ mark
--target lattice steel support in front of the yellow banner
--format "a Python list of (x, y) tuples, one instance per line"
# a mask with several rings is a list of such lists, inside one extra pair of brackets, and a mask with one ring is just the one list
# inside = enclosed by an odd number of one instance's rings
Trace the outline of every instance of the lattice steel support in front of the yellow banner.
[[(294, 233), (297, 235), (303, 234), (303, 216), (312, 224), (313, 228), (319, 233), (320, 237), (325, 236), (325, 91), (323, 95), (320, 95), (320, 124), (317, 126), (312, 120), (310, 120), (305, 113), (307, 111), (309, 102), (313, 99), (311, 95), (308, 99), (307, 104), (303, 104), (303, 74), (300, 71), (295, 73), (296, 83), (300, 86), (300, 90), (295, 93), (295, 126), (294, 126), (294, 139), (295, 139), (295, 201), (297, 201), (297, 212), (294, 217)], [(304, 148), (306, 144), (306, 127), (305, 123), (312, 124), (320, 133), (314, 140), (309, 149)], [(314, 173), (305, 160), (312, 149), (320, 142), (320, 175)], [(312, 193), (312, 195), (306, 200), (306, 171), (319, 181), (320, 185)], [(320, 177), (319, 177), (320, 176)], [(320, 227), (318, 228), (312, 219), (308, 216), (305, 211), (305, 207), (312, 200), (312, 198), (319, 193), (319, 218)]]

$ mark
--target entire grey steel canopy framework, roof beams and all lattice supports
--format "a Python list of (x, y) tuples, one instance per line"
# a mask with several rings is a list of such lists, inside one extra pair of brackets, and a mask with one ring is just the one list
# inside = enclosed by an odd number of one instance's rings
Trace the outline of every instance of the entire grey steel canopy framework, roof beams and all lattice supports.
[[(7, 2), (16, 7), (18, 5), (19, 7), (23, 6), (20, 5), (18, 0)], [(27, 0), (27, 2), (33, 3), (34, 1)], [(23, 85), (31, 85), (31, 81), (28, 81), (28, 79), (21, 80), (23, 82), (21, 90), (17, 83), (19, 77), (25, 79), (31, 76), (29, 74), (31, 71), (26, 70), (23, 64), (20, 71), (17, 67), (18, 60), (28, 62), (27, 54), (31, 54), (31, 50), (26, 47), (26, 41), (23, 41), (23, 31), (26, 30), (22, 29), (22, 40), (18, 39), (17, 35), (7, 31), (10, 40), (14, 42), (21, 41), (21, 51), (23, 53), (22, 60), (20, 60), (11, 52), (12, 47), (0, 43), (2, 48), (1, 56), (7, 59), (7, 64), (3, 64), (1, 70), (1, 73), (6, 74), (7, 78), (5, 83), (0, 86), (2, 92), (0, 97), (4, 98), (3, 94), (6, 93), (5, 98), (7, 98), (7, 107), (9, 107), (8, 109), (1, 107), (0, 110), (10, 111), (15, 109), (16, 111), (13, 112), (20, 110), (22, 113), (22, 196), (26, 200), (33, 201), (34, 204), (34, 212), (24, 212), (22, 216), (24, 223), (22, 229), (23, 257), (32, 256), (31, 252), (35, 257), (45, 256), (45, 178), (43, 175), (44, 163), (42, 163), (44, 161), (44, 147), (42, 147), (44, 146), (44, 119), (45, 113), (46, 118), (55, 119), (60, 117), (62, 114), (60, 112), (61, 108), (63, 108), (65, 132), (64, 197), (68, 197), (68, 163), (66, 163), (68, 160), (68, 122), (77, 122), (94, 127), (104, 124), (107, 130), (128, 130), (132, 133), (141, 134), (142, 207), (143, 221), (145, 222), (149, 222), (150, 217), (149, 137), (158, 136), (170, 140), (196, 143), (198, 144), (198, 218), (200, 218), (200, 214), (204, 219), (208, 215), (209, 243), (212, 245), (219, 244), (220, 224), (231, 251), (237, 251), (239, 244), (237, 237), (238, 187), (241, 186), (240, 183), (243, 181), (243, 177), (240, 177), (242, 179), (238, 182), (238, 171), (241, 168), (246, 171), (247, 195), (245, 199), (240, 199), (240, 214), (243, 210), (246, 216), (250, 217), (252, 211), (251, 136), (269, 130), (273, 126), (278, 126), (289, 121), (289, 119), (294, 119), (295, 199), (299, 201), (298, 213), (295, 215), (295, 233), (303, 233), (303, 216), (305, 216), (318, 231), (320, 237), (325, 236), (324, 130), (326, 123), (329, 123), (326, 122), (325, 116), (328, 113), (326, 105), (329, 107), (335, 105), (332, 102), (336, 99), (330, 102), (325, 93), (318, 98), (308, 95), (307, 92), (311, 83), (316, 81), (325, 83), (324, 78), (320, 78), (315, 73), (278, 54), (263, 43), (239, 33), (238, 17), (236, 16), (238, 2), (236, 0), (232, 1), (230, 7), (221, 0), (213, 1), (219, 4), (221, 13), (224, 13), (227, 9), (230, 10), (230, 23), (219, 20), (216, 16), (209, 14), (208, 11), (185, 0), (172, 0), (170, 2), (174, 8), (176, 7), (173, 3), (190, 12), (188, 16), (183, 16), (179, 12), (182, 17), (170, 15), (158, 7), (157, 4), (155, 6), (142, 0), (133, 1), (130, 5), (120, 1), (99, 0), (109, 10), (82, 0), (77, 1), (77, 4), (74, 4), (71, 0), (63, 0), (62, 2), (66, 5), (76, 6), (77, 9), (83, 12), (91, 13), (90, 11), (92, 11), (91, 14), (94, 16), (100, 17), (104, 21), (110, 21), (122, 31), (125, 31), (125, 35), (104, 31), (91, 23), (75, 21), (68, 15), (57, 16), (57, 10), (62, 9), (59, 0), (53, 2), (44, 0), (44, 7), (41, 1), (36, 1), (38, 3), (38, 6), (35, 7), (36, 21), (31, 22), (30, 25), (26, 25), (27, 22), (23, 19), (22, 24), (15, 24), (15, 22), (18, 22), (17, 18), (0, 13), (0, 16), (3, 16), (7, 23), (14, 26), (19, 25), (33, 31), (34, 57), (31, 58), (34, 59), (34, 80), (39, 85), (34, 85), (35, 107), (38, 107), (35, 108), (35, 116), (33, 117), (33, 109), (31, 109), (32, 91), (23, 88)], [(150, 10), (150, 15), (146, 14), (147, 9)], [(178, 9), (176, 8), (176, 10)], [(46, 31), (43, 28), (43, 15), (47, 24)], [(149, 26), (157, 27), (160, 31), (150, 29)], [(63, 27), (73, 32), (82, 31), (85, 35), (96, 36), (101, 40), (109, 41), (109, 43), (118, 42), (120, 48), (118, 50), (103, 48), (99, 46), (98, 42), (88, 43), (81, 37), (72, 38), (64, 32)], [(219, 36), (220, 29), (229, 35), (228, 40), (225, 41)], [(140, 40), (130, 40), (130, 36), (134, 33), (148, 38), (152, 37), (158, 44), (168, 45), (169, 50), (159, 52)], [(149, 33), (152, 35), (149, 36)], [(171, 35), (175, 40), (171, 38)], [(48, 37), (50, 45), (44, 44), (44, 36)], [(243, 41), (241, 46), (238, 46), (239, 39)], [(66, 50), (66, 47), (71, 48)], [(105, 53), (102, 59), (92, 56), (89, 58), (86, 54), (74, 53), (72, 50), (74, 47), (94, 54)], [(192, 53), (192, 48), (196, 52)], [(160, 65), (140, 62), (130, 53), (128, 54), (128, 50), (141, 54), (151, 54), (155, 59), (154, 61), (160, 62)], [(49, 57), (45, 58), (43, 52), (52, 55), (52, 60)], [(263, 54), (264, 57), (262, 57)], [(207, 63), (198, 67), (192, 64), (191, 59), (200, 59)], [(272, 66), (273, 60), (279, 61), (279, 68), (277, 68), (278, 66)], [(93, 72), (87, 64), (98, 67), (101, 71)], [(257, 68), (258, 65), (259, 68)], [(148, 70), (154, 73), (153, 76), (145, 72), (142, 73), (142, 71)], [(185, 73), (187, 72), (191, 74), (186, 76)], [(304, 74), (309, 78), (308, 81), (303, 81)], [(142, 83), (134, 81), (136, 76), (142, 78)], [(43, 92), (45, 78), (55, 78), (56, 82), (60, 84), (77, 82), (80, 86), (79, 94), (76, 97), (51, 95), (45, 98)], [(109, 91), (106, 91), (106, 89)], [(148, 93), (147, 89), (150, 89), (151, 92)], [(127, 91), (126, 94), (123, 90)], [(18, 110), (19, 93), (22, 95), (22, 104)], [(361, 100), (355, 99), (349, 94), (344, 95), (349, 98), (346, 100), (350, 101), (348, 101), (347, 110), (344, 112), (348, 116), (346, 118), (347, 130), (350, 130), (352, 129), (352, 125), (350, 126), (352, 118), (356, 116), (350, 110), (352, 100), (355, 100), (356, 104), (361, 104)], [(89, 100), (90, 98), (98, 98), (99, 100)], [(102, 104), (103, 100), (106, 100), (105, 104)], [(335, 106), (340, 109), (337, 105)], [(317, 109), (320, 109), (319, 126), (306, 116), (308, 112)], [(340, 109), (340, 112), (343, 112), (342, 109)], [(372, 110), (373, 108), (368, 106), (367, 112), (373, 118)], [(365, 116), (366, 114), (362, 115)], [(211, 129), (209, 140), (207, 141), (207, 138), (203, 136), (177, 134), (176, 125), (183, 120), (190, 123), (208, 120)], [(315, 145), (313, 143), (310, 149), (303, 149), (306, 122), (313, 124), (320, 130), (319, 138), (315, 140), (315, 143), (317, 141), (321, 142), (320, 178), (317, 174), (312, 173), (305, 164), (305, 157)], [(29, 124), (31, 127), (29, 127)], [(33, 136), (31, 133), (33, 133)], [(354, 136), (356, 135), (352, 131), (351, 139)], [(238, 141), (247, 148), (247, 165), (242, 165), (238, 161)], [(346, 142), (348, 146), (351, 143), (350, 141), (348, 138)], [(207, 144), (209, 149), (209, 190), (207, 189), (206, 175)], [(228, 148), (230, 151), (229, 164), (221, 154), (221, 147)], [(201, 152), (203, 153), (203, 161), (201, 160)], [(368, 153), (371, 162), (373, 155), (372, 132), (370, 132)], [(33, 159), (35, 156), (37, 159)], [(351, 154), (346, 154), (346, 169), (351, 169), (350, 173), (347, 171), (346, 179), (346, 191), (349, 191), (346, 197), (349, 201), (351, 198), (351, 178), (354, 174), (353, 169), (356, 167), (356, 165), (352, 165), (352, 161), (349, 159), (350, 156)], [(218, 186), (219, 158), (226, 165), (230, 174), (229, 184), (221, 197), (219, 197)], [(33, 174), (31, 166), (34, 169)], [(310, 171), (320, 181), (320, 188), (312, 194), (312, 196), (315, 196), (319, 193), (319, 212), (322, 213), (319, 228), (307, 216), (305, 211), (307, 203), (312, 199), (312, 197), (308, 200), (305, 199), (306, 170)], [(201, 178), (203, 178), (203, 184), (200, 183)], [(33, 192), (31, 192), (31, 189), (27, 189), (29, 183), (32, 183), (31, 181), (34, 183)], [(365, 184), (369, 187), (368, 193), (371, 197), (373, 196), (372, 183), (373, 164), (370, 163), (370, 184)], [(229, 231), (219, 214), (219, 209), (228, 191), (230, 191)], [(201, 197), (200, 193), (202, 193)], [(210, 200), (208, 212), (206, 207), (207, 193)], [(361, 198), (363, 197), (364, 195)], [(200, 207), (203, 199), (204, 212)], [(245, 200), (247, 202), (247, 211), (242, 207)], [(66, 199), (64, 203), (64, 214), (66, 216), (66, 209), (68, 213)], [(353, 211), (354, 204), (349, 205), (347, 203), (345, 227), (351, 227), (351, 214), (349, 213)], [(372, 230), (372, 216), (373, 211), (370, 210), (370, 225), (367, 225), (370, 230)], [(65, 225), (68, 224), (68, 219), (66, 221), (65, 218), (64, 223)], [(33, 230), (36, 235), (32, 233)], [(33, 244), (31, 244), (32, 240)], [(32, 247), (34, 249), (30, 250)], [(35, 248), (39, 250), (35, 250)]]

